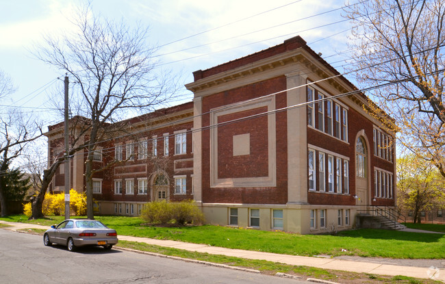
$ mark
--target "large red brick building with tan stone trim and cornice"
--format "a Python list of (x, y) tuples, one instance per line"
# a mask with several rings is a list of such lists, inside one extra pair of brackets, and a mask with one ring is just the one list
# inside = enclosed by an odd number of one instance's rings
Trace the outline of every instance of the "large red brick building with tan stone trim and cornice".
[[(358, 212), (394, 209), (394, 133), (364, 94), (341, 96), (357, 88), (301, 37), (198, 70), (186, 88), (192, 103), (132, 118), (137, 138), (99, 145), (97, 163), (122, 161), (94, 179), (101, 214), (192, 198), (209, 224), (324, 233), (351, 229)], [(49, 157), (60, 131), (47, 133)], [(53, 190), (58, 181), (63, 171)]]

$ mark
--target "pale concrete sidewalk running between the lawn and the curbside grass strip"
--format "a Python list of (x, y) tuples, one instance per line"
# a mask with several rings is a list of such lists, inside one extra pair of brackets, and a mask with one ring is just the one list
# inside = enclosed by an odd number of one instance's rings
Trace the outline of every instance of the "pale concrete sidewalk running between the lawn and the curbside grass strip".
[[(37, 224), (25, 224), (1, 221), (0, 223), (8, 224), (12, 227), (8, 229), (11, 231), (20, 231), (23, 229), (49, 229), (47, 226), (40, 226)], [(192, 244), (186, 242), (177, 242), (170, 240), (154, 240), (144, 237), (131, 237), (126, 235), (118, 236), (119, 240), (131, 242), (144, 242), (147, 244), (154, 244), (157, 246), (165, 246), (169, 248), (178, 248), (181, 250), (196, 251), (198, 253), (209, 253), (212, 255), (227, 255), (229, 257), (240, 257), (244, 259), (259, 259), (266, 261), (279, 262), (289, 264), (292, 266), (311, 266), (316, 268), (325, 268), (331, 270), (343, 270), (349, 272), (381, 274), (381, 275), (403, 275), (416, 277), (421, 279), (429, 279), (432, 276), (435, 280), (445, 282), (445, 268), (426, 268), (419, 266), (401, 266), (387, 263), (379, 263), (377, 258), (372, 258), (371, 261), (361, 258), (357, 260), (335, 259), (327, 257), (300, 257), (296, 255), (279, 255), (276, 253), (262, 253), (250, 250), (238, 250), (232, 248), (219, 248), (214, 246), (207, 246), (205, 244)]]

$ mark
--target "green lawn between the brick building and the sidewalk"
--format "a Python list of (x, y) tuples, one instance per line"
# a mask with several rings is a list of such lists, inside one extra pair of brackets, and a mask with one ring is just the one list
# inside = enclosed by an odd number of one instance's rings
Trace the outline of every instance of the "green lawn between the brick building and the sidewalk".
[[(118, 235), (151, 237), (208, 244), (225, 248), (264, 251), (287, 255), (358, 255), (408, 259), (445, 259), (445, 235), (408, 233), (374, 229), (343, 231), (338, 235), (298, 235), (276, 231), (233, 229), (205, 225), (202, 227), (147, 227), (138, 217), (97, 216)], [(28, 221), (25, 216), (0, 218), (11, 222), (51, 225), (63, 217)], [(346, 252), (342, 251), (346, 250)]]

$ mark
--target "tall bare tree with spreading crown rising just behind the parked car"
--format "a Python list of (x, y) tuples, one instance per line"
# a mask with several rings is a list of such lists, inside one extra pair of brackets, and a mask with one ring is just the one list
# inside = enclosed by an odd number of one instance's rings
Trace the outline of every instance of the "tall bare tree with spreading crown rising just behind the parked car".
[(73, 115), (86, 118), (81, 133), (87, 153), (87, 216), (94, 218), (92, 162), (98, 143), (120, 126), (113, 122), (166, 103), (177, 87), (172, 77), (155, 73), (155, 49), (147, 45), (147, 29), (99, 18), (89, 7), (79, 10), (73, 24), (73, 33), (45, 37), (36, 55), (75, 83), (70, 107)]

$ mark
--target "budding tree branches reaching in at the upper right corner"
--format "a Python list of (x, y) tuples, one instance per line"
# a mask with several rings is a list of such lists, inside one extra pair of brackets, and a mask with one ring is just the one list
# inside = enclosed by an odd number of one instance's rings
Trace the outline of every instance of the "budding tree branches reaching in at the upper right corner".
[(361, 87), (387, 83), (370, 94), (396, 124), (380, 118), (445, 177), (445, 2), (360, 1), (346, 12), (355, 79)]

